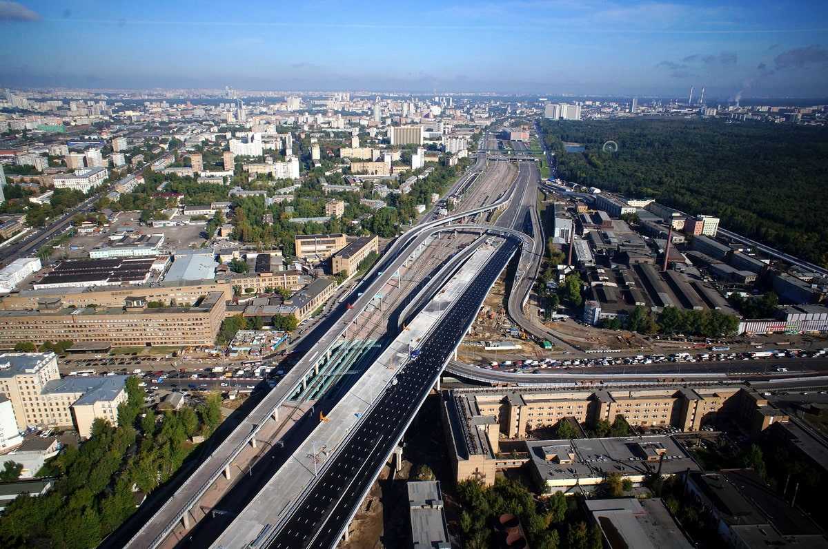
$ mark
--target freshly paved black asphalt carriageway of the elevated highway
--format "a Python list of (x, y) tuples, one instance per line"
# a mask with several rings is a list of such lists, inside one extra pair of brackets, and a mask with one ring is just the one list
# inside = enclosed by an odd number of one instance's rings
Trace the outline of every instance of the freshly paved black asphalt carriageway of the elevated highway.
[(420, 355), (403, 366), (396, 383), (363, 418), (315, 485), (292, 509), (267, 547), (335, 547), (351, 512), (362, 502), (378, 471), (434, 386), (457, 342), (474, 319), (489, 287), (517, 244), (508, 240), (450, 308), (421, 346)]

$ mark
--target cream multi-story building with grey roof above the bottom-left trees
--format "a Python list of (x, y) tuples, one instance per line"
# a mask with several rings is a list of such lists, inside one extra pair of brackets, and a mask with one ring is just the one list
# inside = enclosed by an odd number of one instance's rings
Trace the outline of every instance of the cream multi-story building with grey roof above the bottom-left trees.
[(72, 427), (87, 438), (92, 422), (118, 425), (118, 404), (127, 399), (126, 375), (66, 377), (54, 353), (0, 355), (0, 393), (12, 403), (17, 428)]

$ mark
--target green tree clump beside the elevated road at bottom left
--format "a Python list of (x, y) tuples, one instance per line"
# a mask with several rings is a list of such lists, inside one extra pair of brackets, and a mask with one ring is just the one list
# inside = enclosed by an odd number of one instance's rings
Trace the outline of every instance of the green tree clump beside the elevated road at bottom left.
[(39, 497), (20, 496), (0, 516), (2, 547), (91, 549), (135, 512), (132, 486), (151, 492), (181, 466), (194, 446), (188, 437), (209, 435), (221, 421), (220, 397), (156, 418), (143, 409), (137, 378), (118, 406), (118, 427), (96, 419), (89, 440), (66, 446), (39, 475), (56, 476)]

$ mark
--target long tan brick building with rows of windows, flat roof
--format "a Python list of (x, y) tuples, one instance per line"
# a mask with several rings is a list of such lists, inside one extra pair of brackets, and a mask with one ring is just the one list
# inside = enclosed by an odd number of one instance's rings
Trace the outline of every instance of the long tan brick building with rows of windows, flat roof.
[(210, 346), (224, 317), (224, 294), (211, 292), (197, 307), (147, 308), (127, 298), (120, 308), (60, 307), (41, 302), (39, 310), (0, 311), (0, 346), (20, 341), (41, 344), (71, 340), (112, 346)]

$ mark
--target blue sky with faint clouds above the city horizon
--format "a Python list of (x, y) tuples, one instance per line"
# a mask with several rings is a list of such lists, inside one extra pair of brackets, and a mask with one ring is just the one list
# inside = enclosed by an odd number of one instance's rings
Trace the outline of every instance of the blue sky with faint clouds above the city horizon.
[(0, 85), (828, 96), (828, 2), (0, 2)]

